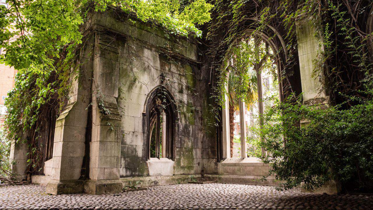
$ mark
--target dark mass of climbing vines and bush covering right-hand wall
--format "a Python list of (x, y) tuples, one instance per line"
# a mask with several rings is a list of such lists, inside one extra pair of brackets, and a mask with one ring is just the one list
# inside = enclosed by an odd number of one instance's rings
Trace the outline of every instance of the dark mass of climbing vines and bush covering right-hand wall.
[[(236, 39), (244, 37), (247, 29), (252, 36), (264, 33), (268, 41), (276, 41), (280, 32), (286, 47), (281, 44), (277, 53), (286, 59), (278, 63), (283, 101), (273, 100), (266, 109), (263, 129), (258, 129), (268, 151), (263, 158), (273, 164), (269, 175), (284, 182), (280, 189), (289, 189), (304, 182), (306, 188), (323, 185), (329, 180), (342, 183), (346, 191), (372, 188), (372, 34), (367, 34), (366, 18), (372, 1), (346, 0), (216, 0), (206, 40), (211, 47), (210, 57), (214, 78), (212, 110), (220, 120), (224, 108), (221, 87), (227, 83), (224, 52)], [(316, 28), (323, 50), (317, 53), (312, 76), (320, 78), (329, 107), (304, 104), (289, 78), (297, 69), (296, 22), (309, 20)], [(270, 28), (270, 27), (271, 28)], [(241, 52), (238, 53), (238, 55)], [(236, 53), (237, 54), (237, 53)], [(255, 55), (254, 55), (255, 56)], [(223, 72), (223, 73), (222, 73)], [(240, 75), (238, 75), (240, 76)], [(242, 77), (242, 76), (241, 76)], [(244, 81), (245, 78), (236, 78)], [(242, 84), (244, 89), (245, 84)], [(245, 98), (241, 94), (241, 98)], [(266, 99), (270, 100), (270, 99)], [(210, 120), (216, 123), (214, 120)], [(302, 122), (303, 127), (300, 126)], [(305, 123), (307, 122), (307, 123)]]

